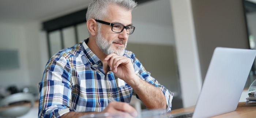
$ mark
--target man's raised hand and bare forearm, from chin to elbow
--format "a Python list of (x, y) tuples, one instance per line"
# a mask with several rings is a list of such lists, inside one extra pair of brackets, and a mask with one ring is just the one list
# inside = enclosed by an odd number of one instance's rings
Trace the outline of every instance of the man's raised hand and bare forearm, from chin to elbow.
[(112, 53), (106, 56), (104, 60), (108, 62), (110, 70), (118, 78), (123, 79), (132, 87), (147, 108), (157, 109), (167, 107), (165, 95), (162, 91), (135, 74), (130, 58)]

